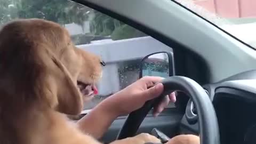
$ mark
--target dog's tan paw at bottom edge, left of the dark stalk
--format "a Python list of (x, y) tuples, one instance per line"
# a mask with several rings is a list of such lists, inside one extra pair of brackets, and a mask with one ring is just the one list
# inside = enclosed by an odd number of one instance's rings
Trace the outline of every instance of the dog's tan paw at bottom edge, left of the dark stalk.
[(150, 135), (148, 133), (141, 133), (133, 137), (135, 141), (138, 141), (139, 143), (147, 143), (147, 142), (152, 142), (152, 143), (161, 143), (160, 139), (157, 139), (155, 136)]

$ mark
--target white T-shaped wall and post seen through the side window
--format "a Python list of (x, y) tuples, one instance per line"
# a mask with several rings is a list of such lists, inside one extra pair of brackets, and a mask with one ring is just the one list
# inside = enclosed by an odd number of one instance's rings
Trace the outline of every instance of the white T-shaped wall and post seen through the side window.
[(147, 54), (159, 51), (172, 52), (169, 46), (151, 37), (131, 38), (120, 41), (111, 41), (109, 39), (92, 44), (77, 45), (77, 47), (100, 55), (102, 60), (106, 62), (106, 66), (103, 67), (103, 77), (98, 84), (99, 94), (109, 94), (119, 90), (117, 62), (142, 59)]

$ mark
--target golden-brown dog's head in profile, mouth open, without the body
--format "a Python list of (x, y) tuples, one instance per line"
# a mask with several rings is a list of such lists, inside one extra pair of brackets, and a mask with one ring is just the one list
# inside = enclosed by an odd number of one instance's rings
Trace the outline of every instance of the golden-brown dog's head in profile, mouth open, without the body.
[(21, 19), (0, 31), (0, 92), (9, 95), (5, 100), (16, 97), (12, 99), (19, 103), (39, 102), (77, 115), (83, 99), (97, 93), (102, 65), (97, 55), (78, 49), (68, 31), (51, 21)]

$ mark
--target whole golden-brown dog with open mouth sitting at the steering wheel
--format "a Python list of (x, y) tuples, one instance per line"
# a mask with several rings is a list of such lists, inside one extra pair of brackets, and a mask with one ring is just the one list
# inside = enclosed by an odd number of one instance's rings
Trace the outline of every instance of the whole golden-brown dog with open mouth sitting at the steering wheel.
[[(68, 31), (42, 19), (20, 19), (0, 31), (0, 143), (100, 144), (67, 115), (97, 94), (102, 61), (78, 49)], [(92, 122), (93, 123), (93, 122)], [(149, 134), (112, 143), (160, 142)]]

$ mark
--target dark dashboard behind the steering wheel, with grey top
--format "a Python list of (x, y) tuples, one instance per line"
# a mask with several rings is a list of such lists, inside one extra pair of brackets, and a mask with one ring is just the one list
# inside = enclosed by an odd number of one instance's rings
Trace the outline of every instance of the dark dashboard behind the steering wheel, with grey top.
[[(217, 114), (221, 143), (256, 143), (256, 70), (245, 71), (203, 88)], [(189, 100), (180, 133), (199, 134), (198, 128), (196, 109)]]

